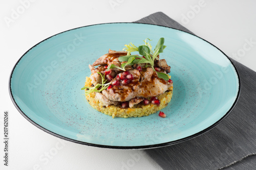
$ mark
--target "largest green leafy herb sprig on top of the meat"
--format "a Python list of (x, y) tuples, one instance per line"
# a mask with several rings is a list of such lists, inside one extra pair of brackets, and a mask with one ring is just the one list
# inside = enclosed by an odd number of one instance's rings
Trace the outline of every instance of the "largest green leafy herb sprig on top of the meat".
[[(148, 42), (146, 42), (146, 40), (149, 40)], [(139, 64), (139, 63), (149, 63), (152, 67), (152, 69), (154, 71), (155, 68), (154, 68), (154, 61), (155, 59), (158, 60), (157, 56), (160, 54), (160, 53), (163, 53), (163, 50), (164, 48), (166, 47), (164, 44), (164, 38), (160, 38), (158, 40), (158, 43), (154, 49), (154, 51), (152, 51), (152, 45), (150, 44), (150, 39), (146, 39), (144, 42), (145, 44), (144, 45), (140, 45), (139, 47), (135, 46), (133, 43), (130, 43), (130, 44), (126, 44), (124, 46), (126, 46), (126, 48), (124, 48), (123, 50), (125, 50), (127, 52), (127, 56), (122, 56), (122, 57), (119, 57), (118, 60), (120, 62), (123, 62), (123, 61), (129, 61), (131, 58), (139, 58), (139, 59), (131, 59), (132, 60), (132, 63), (133, 64)], [(140, 57), (140, 56), (136, 56), (136, 55), (130, 55), (131, 52), (136, 52), (138, 51), (140, 55), (144, 56), (145, 58), (143, 57)], [(132, 64), (131, 62), (129, 64)], [(127, 65), (127, 64), (126, 64)], [(124, 68), (124, 67), (123, 67)], [(157, 76), (161, 79), (164, 79), (164, 80), (169, 80), (169, 77), (168, 75), (164, 74), (163, 72), (157, 72)]]

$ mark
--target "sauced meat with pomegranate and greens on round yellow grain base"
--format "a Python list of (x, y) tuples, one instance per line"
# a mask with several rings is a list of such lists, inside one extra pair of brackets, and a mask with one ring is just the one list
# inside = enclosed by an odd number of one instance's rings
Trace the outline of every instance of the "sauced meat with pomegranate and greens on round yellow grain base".
[(170, 66), (159, 57), (166, 47), (164, 38), (159, 39), (154, 51), (150, 41), (146, 39), (138, 47), (130, 43), (125, 51), (109, 50), (89, 65), (92, 74), (82, 89), (93, 108), (113, 118), (126, 118), (150, 115), (167, 106), (173, 81), (167, 75)]

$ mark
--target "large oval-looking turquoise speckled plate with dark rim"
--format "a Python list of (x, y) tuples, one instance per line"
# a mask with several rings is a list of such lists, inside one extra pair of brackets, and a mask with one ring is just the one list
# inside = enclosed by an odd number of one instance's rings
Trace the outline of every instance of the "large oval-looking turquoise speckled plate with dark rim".
[[(124, 44), (160, 37), (167, 46), (160, 58), (170, 65), (173, 99), (162, 111), (136, 118), (112, 118), (86, 101), (89, 64)], [(104, 23), (47, 38), (14, 66), (12, 101), (33, 125), (69, 141), (114, 149), (163, 147), (196, 137), (221, 122), (240, 94), (232, 62), (216, 46), (186, 32), (142, 23)]]

